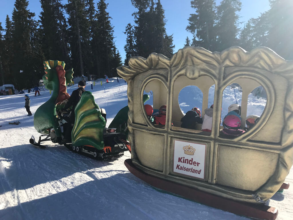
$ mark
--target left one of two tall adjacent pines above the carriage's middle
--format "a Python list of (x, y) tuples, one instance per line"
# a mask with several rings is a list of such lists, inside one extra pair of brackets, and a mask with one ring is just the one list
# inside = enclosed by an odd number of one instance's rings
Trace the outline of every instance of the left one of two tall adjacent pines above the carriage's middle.
[(196, 13), (190, 14), (189, 25), (186, 30), (195, 34), (193, 45), (214, 51), (216, 32), (215, 32), (215, 0), (193, 0), (191, 7), (196, 9)]

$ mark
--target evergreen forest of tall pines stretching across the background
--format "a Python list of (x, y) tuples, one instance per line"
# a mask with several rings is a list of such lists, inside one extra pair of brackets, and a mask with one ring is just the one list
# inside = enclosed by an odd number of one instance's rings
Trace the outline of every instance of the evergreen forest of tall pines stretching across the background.
[[(156, 52), (171, 58), (175, 45), (160, 0), (123, 1), (131, 1), (136, 11), (125, 26), (122, 61), (105, 0), (40, 0), (40, 15), (28, 10), (27, 0), (15, 0), (11, 20), (7, 15), (5, 24), (0, 22), (0, 84), (33, 87), (44, 75), (44, 60), (62, 60), (77, 76), (102, 78), (117, 76), (116, 67), (128, 65), (132, 56)], [(186, 30), (193, 38), (187, 37), (184, 45), (212, 52), (235, 45), (247, 51), (265, 46), (293, 60), (293, 1), (268, 1), (268, 11), (243, 24), (241, 0), (222, 0), (219, 5), (215, 0), (191, 0), (194, 13), (188, 15)]]

